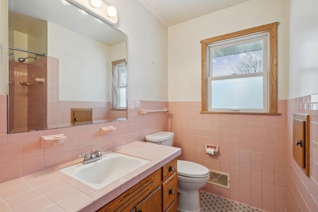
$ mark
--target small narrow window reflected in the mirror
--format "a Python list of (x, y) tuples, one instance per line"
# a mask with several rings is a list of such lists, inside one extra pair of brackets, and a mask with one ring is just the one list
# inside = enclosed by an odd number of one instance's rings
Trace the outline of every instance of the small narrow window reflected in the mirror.
[(112, 109), (127, 109), (127, 62), (125, 59), (112, 62)]

